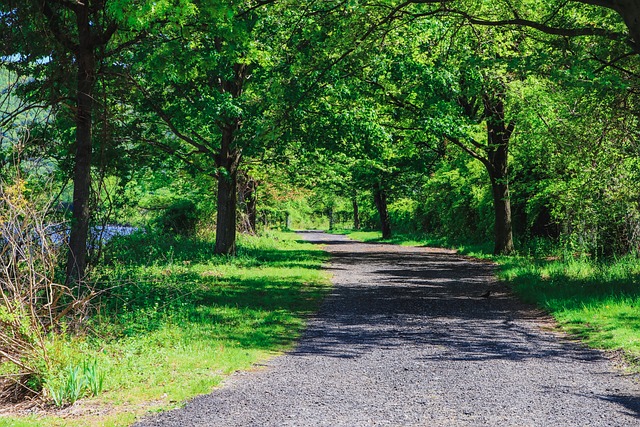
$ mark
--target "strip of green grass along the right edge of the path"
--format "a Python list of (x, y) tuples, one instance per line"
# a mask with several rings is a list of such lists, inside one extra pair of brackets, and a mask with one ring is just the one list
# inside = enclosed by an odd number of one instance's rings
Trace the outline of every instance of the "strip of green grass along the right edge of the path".
[[(635, 371), (640, 371), (640, 260), (627, 256), (594, 261), (575, 254), (527, 250), (527, 255), (493, 256), (489, 245), (452, 245), (445, 239), (397, 235), (383, 240), (379, 232), (338, 231), (368, 242), (412, 246), (440, 246), (490, 259), (498, 277), (523, 300), (549, 312), (559, 326), (587, 345), (622, 350)], [(533, 254), (533, 255), (532, 255)]]

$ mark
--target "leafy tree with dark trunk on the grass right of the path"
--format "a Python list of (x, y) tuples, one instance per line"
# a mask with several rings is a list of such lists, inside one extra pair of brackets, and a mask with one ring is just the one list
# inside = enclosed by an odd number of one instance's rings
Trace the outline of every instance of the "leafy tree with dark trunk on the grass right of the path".
[[(413, 138), (435, 154), (443, 141), (453, 142), (485, 166), (494, 199), (494, 251), (509, 254), (514, 247), (508, 154), (515, 122), (505, 104), (517, 71), (512, 63), (518, 35), (451, 24), (456, 23), (450, 22), (449, 28), (429, 19), (407, 23), (394, 34), (404, 42), (391, 45), (376, 60), (389, 68), (366, 81), (394, 108), (390, 127), (413, 132)], [(423, 49), (450, 31), (457, 35), (451, 44)], [(478, 141), (482, 133), (485, 143)]]

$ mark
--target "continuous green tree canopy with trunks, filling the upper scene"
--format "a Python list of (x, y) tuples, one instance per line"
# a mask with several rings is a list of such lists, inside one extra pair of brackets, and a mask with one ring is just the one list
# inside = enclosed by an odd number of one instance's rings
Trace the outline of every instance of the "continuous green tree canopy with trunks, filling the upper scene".
[[(75, 282), (91, 224), (110, 211), (103, 183), (140, 194), (125, 188), (159, 174), (211, 186), (198, 193), (211, 201), (198, 204), (215, 215), (219, 254), (235, 253), (238, 206), (254, 229), (260, 211), (268, 222), (288, 209), (271, 193), (261, 206), (261, 188), (276, 187), (348, 200), (385, 235), (407, 222), (444, 232), (453, 221), (445, 212), (458, 209), (479, 218), (463, 234), (493, 234), (496, 253), (540, 233), (602, 252), (627, 233), (614, 246), (628, 251), (639, 8), (633, 0), (12, 0), (0, 9), (2, 68), (15, 77), (3, 80), (11, 102), (0, 123), (9, 129), (28, 111), (47, 112), (29, 144), (55, 159), (61, 185), (72, 183), (67, 278)], [(460, 180), (447, 181), (454, 171)], [(451, 209), (439, 213), (436, 200)], [(585, 216), (589, 209), (599, 214)]]

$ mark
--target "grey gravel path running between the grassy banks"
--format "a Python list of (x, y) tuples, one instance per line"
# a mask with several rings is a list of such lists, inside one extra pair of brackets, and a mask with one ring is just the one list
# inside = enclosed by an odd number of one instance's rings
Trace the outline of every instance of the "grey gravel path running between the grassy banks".
[(545, 331), (490, 265), (303, 236), (335, 289), (298, 347), (138, 426), (640, 426), (640, 385)]

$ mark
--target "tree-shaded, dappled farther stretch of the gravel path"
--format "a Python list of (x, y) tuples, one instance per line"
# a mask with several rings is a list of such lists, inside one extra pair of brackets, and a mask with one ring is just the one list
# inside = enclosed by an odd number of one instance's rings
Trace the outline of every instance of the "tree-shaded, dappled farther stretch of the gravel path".
[[(598, 357), (523, 326), (539, 313), (495, 282), (492, 264), (438, 249), (352, 242), (343, 251), (344, 242), (332, 241), (317, 242), (333, 253), (330, 270), (342, 277), (325, 303), (331, 315), (311, 326), (297, 354), (352, 358), (379, 347), (423, 346), (437, 349), (423, 361)], [(344, 276), (348, 269), (360, 276)], [(483, 298), (487, 289), (492, 294)]]

